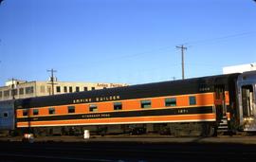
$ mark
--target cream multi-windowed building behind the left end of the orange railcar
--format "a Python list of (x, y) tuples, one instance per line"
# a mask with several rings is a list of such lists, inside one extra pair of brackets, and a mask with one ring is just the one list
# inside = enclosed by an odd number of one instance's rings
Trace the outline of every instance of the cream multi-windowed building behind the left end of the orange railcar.
[(96, 89), (113, 88), (119, 86), (127, 86), (126, 83), (93, 83), (93, 82), (68, 82), (54, 81), (54, 85), (50, 81), (7, 81), (6, 86), (0, 87), (0, 100), (8, 99), (25, 99), (41, 96), (49, 96), (91, 91)]

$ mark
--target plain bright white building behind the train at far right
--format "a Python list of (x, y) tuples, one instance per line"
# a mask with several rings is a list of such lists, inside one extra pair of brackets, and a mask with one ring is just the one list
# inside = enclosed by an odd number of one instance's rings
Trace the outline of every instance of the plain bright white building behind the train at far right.
[(239, 64), (233, 66), (223, 67), (223, 74), (243, 73), (246, 71), (256, 70), (256, 63)]

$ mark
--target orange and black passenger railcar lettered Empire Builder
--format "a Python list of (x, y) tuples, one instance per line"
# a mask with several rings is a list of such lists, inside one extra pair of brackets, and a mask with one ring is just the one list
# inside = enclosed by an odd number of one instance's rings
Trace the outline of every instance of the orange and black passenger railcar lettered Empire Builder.
[(236, 108), (239, 75), (18, 99), (16, 128), (35, 135), (81, 135), (83, 130), (101, 135), (230, 132), (241, 126)]

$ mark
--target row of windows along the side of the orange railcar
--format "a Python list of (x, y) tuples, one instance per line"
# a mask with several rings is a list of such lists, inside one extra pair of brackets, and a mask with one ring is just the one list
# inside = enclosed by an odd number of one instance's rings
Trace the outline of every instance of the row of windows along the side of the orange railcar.
[[(191, 96), (190, 98), (190, 105), (195, 105), (196, 104), (196, 98), (194, 96)], [(122, 110), (122, 103), (121, 102), (114, 102), (114, 110)], [(166, 107), (172, 107), (176, 106), (176, 98), (167, 98), (165, 99), (165, 106)], [(140, 100), (140, 107), (141, 108), (151, 108), (151, 100), (150, 99), (143, 99)], [(67, 112), (68, 113), (75, 113), (75, 106), (67, 106)], [(89, 105), (89, 112), (98, 112), (98, 106), (97, 104), (90, 104)], [(49, 115), (54, 115), (55, 114), (55, 108), (50, 107), (48, 108), (48, 114)], [(23, 110), (23, 116), (27, 116), (27, 110)], [(38, 109), (33, 109), (33, 116), (38, 116), (39, 115), (39, 110)]]

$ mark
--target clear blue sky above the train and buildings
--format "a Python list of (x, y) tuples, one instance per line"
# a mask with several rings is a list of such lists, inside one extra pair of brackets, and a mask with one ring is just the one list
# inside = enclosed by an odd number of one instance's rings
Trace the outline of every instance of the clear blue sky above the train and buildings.
[(0, 85), (15, 78), (127, 82), (222, 73), (256, 62), (252, 0), (4, 0)]

